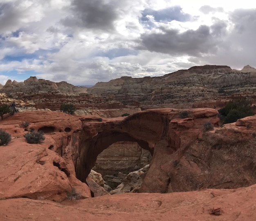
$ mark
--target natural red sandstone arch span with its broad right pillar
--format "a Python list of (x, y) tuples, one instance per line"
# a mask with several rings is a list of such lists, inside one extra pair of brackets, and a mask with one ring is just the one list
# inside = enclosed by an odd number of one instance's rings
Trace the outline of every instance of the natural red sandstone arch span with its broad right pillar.
[[(180, 118), (181, 111), (191, 116)], [(186, 164), (184, 153), (202, 135), (203, 125), (219, 121), (218, 111), (211, 108), (174, 110), (171, 108), (145, 110), (128, 117), (105, 118), (102, 122), (92, 117), (80, 118), (83, 126), (79, 146), (73, 162), (76, 177), (85, 182), (101, 151), (117, 141), (135, 141), (153, 155), (150, 168), (143, 179), (140, 192), (184, 191), (182, 184), (175, 186), (176, 166)], [(200, 173), (199, 173), (200, 174)], [(153, 182), (152, 182), (153, 181)], [(189, 183), (195, 189), (198, 183)]]

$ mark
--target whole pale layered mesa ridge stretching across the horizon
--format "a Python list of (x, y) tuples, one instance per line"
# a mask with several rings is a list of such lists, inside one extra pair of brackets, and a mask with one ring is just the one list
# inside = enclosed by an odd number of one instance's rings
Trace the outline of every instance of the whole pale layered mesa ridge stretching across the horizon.
[[(203, 107), (202, 103), (232, 96), (247, 96), (254, 99), (256, 93), (256, 69), (249, 65), (242, 70), (226, 65), (193, 66), (160, 77), (132, 78), (123, 76), (109, 82), (98, 82), (92, 87), (74, 86), (67, 82), (29, 77), (24, 82), (8, 80), (2, 93), (90, 93), (109, 101), (142, 109), (173, 107)], [(93, 95), (93, 96), (94, 96)], [(104, 100), (103, 99), (103, 100)], [(254, 101), (255, 100), (255, 101)], [(252, 102), (256, 103), (256, 98)]]

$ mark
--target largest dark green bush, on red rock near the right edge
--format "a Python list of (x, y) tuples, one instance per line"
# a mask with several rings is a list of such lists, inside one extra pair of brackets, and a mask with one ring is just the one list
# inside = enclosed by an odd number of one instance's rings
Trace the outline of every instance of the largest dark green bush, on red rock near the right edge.
[(238, 119), (254, 115), (255, 106), (252, 106), (245, 98), (231, 100), (224, 107), (219, 109), (219, 117), (222, 124), (236, 122)]

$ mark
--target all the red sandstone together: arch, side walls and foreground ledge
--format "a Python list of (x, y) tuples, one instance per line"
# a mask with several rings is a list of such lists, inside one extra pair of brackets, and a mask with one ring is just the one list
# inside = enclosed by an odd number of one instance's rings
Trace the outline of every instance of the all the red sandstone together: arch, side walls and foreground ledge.
[[(0, 220), (256, 220), (256, 115), (219, 128), (217, 110), (186, 111), (106, 119), (5, 115), (0, 128), (12, 140), (0, 146)], [(22, 122), (30, 122), (28, 128)], [(207, 122), (215, 127), (205, 132)], [(27, 130), (44, 131), (45, 141), (27, 144)], [(136, 141), (153, 155), (141, 187), (132, 190), (144, 193), (91, 198), (104, 194), (85, 183), (97, 155), (122, 140)], [(81, 200), (67, 201), (72, 188)], [(192, 190), (198, 191), (184, 192)]]

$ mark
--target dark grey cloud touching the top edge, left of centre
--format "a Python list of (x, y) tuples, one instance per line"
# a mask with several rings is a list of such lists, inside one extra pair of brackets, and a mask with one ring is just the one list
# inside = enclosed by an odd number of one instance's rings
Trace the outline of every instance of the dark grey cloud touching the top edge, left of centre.
[(62, 20), (70, 27), (89, 29), (115, 29), (114, 22), (119, 18), (117, 0), (74, 0), (72, 2), (72, 15)]

